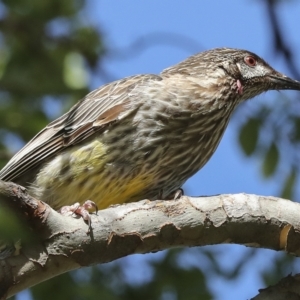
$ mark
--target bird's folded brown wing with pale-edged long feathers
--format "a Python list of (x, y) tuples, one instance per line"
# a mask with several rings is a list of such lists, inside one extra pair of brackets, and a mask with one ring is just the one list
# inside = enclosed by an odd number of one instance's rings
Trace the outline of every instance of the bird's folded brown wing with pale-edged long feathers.
[(51, 122), (26, 144), (0, 171), (3, 180), (14, 180), (65, 147), (77, 144), (138, 109), (130, 92), (157, 75), (137, 75), (106, 84), (89, 93), (69, 112)]

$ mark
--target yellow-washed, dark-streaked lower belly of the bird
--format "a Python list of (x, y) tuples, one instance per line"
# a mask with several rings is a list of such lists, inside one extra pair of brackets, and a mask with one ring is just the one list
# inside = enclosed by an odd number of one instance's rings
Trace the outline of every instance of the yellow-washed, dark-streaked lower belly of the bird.
[(143, 191), (153, 185), (155, 176), (142, 166), (112, 159), (107, 147), (95, 139), (87, 146), (69, 148), (44, 165), (29, 191), (56, 209), (88, 199), (102, 209), (147, 197)]

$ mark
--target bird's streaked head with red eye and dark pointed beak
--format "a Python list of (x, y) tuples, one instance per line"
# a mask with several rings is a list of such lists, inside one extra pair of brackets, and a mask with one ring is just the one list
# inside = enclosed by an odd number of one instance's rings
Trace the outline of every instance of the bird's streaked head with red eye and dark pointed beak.
[[(239, 49), (216, 48), (198, 53), (164, 72), (207, 79), (215, 87), (230, 84), (239, 100), (268, 90), (300, 90), (300, 82), (275, 71), (256, 54)], [(218, 84), (221, 83), (221, 84)]]

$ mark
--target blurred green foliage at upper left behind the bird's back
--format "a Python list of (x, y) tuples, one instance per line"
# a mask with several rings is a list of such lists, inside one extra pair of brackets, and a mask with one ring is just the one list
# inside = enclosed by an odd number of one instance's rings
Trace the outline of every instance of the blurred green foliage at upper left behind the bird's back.
[(96, 70), (104, 47), (98, 30), (81, 20), (83, 6), (83, 0), (0, 3), (1, 165), (5, 146), (28, 141), (49, 122), (49, 99), (60, 115), (88, 92), (87, 70)]

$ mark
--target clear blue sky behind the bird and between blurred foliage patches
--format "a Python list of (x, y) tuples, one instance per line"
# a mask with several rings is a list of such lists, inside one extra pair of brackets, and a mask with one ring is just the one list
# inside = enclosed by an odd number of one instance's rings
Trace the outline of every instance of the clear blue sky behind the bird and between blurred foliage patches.
[[(300, 49), (300, 1), (283, 2), (278, 13), (286, 41)], [(107, 80), (134, 74), (159, 73), (196, 52), (223, 46), (253, 51), (277, 70), (288, 73), (282, 59), (270, 51), (273, 46), (272, 35), (264, 1), (90, 0), (81, 19), (86, 24), (101, 28), (108, 48), (108, 55), (102, 61), (106, 75), (92, 78), (91, 88)], [(140, 42), (139, 47), (132, 52), (131, 46), (136, 41)], [(300, 68), (300, 51), (297, 55)], [(251, 109), (258, 102), (272, 101), (275, 95), (269, 92), (243, 105)], [(213, 158), (187, 182), (189, 195), (239, 192), (278, 194), (276, 177), (263, 179), (258, 159), (246, 158), (241, 152), (236, 134), (236, 124), (240, 121), (238, 113), (235, 114)], [(242, 246), (232, 245), (213, 249), (220, 252), (220, 262), (225, 267), (230, 267), (233, 258), (238, 260), (243, 251), (247, 251)], [(193, 250), (190, 251), (190, 255), (182, 258), (187, 264), (205, 265), (205, 261), (193, 261)], [(253, 297), (258, 288), (263, 287), (257, 277), (259, 270), (270, 266), (276, 255), (280, 254), (257, 250), (254, 263), (247, 265), (234, 283), (214, 278), (210, 286), (216, 295), (215, 299)], [(133, 256), (131, 264), (140, 263), (143, 259), (147, 259), (146, 256)], [(296, 270), (288, 270), (293, 271)]]

